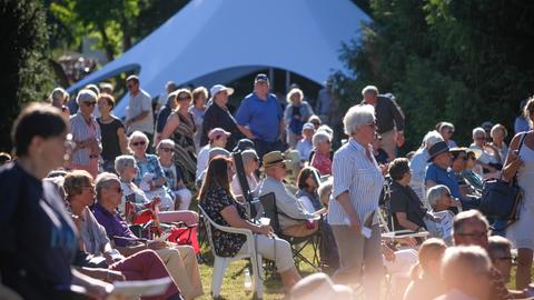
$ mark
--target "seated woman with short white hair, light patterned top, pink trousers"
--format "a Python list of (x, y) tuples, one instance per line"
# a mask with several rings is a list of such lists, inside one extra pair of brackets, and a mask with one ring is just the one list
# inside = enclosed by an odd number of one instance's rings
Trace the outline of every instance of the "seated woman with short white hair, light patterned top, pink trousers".
[[(159, 162), (158, 162), (159, 163)], [(121, 201), (118, 204), (119, 213), (127, 214), (126, 203), (134, 206), (134, 212), (139, 213), (149, 207), (150, 200), (147, 194), (134, 183), (138, 173), (136, 159), (132, 156), (119, 156), (115, 159), (115, 170), (120, 178), (122, 189)], [(129, 217), (129, 216), (127, 216)], [(160, 211), (158, 218), (161, 222), (184, 221), (187, 224), (198, 223), (198, 214), (195, 211)]]

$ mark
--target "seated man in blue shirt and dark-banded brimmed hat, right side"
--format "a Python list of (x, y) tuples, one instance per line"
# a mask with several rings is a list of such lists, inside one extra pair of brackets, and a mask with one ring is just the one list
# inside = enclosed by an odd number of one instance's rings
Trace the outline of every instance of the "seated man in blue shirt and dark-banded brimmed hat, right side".
[[(436, 142), (428, 150), (428, 162), (431, 164), (428, 164), (425, 173), (426, 189), (436, 184), (446, 186), (451, 190), (451, 196), (455, 199), (453, 203), (459, 201), (463, 210), (477, 209), (481, 200), (471, 196), (463, 196), (459, 191), (458, 181), (456, 181), (451, 169), (453, 156), (449, 151), (451, 149), (445, 141)], [(456, 208), (453, 211), (457, 213)]]

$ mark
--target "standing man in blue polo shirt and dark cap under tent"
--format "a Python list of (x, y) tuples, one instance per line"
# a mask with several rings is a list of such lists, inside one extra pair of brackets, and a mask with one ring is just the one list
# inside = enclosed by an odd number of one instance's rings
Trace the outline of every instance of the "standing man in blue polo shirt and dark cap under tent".
[(256, 144), (256, 152), (261, 158), (270, 151), (284, 151), (284, 113), (276, 96), (269, 93), (269, 78), (257, 74), (254, 92), (241, 101), (236, 121), (239, 130)]

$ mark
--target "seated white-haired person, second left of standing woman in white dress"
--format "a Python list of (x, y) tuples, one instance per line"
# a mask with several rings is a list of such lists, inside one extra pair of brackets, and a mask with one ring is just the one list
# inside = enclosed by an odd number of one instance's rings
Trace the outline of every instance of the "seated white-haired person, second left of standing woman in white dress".
[(486, 143), (486, 131), (482, 127), (473, 129), (473, 143), (469, 146), (472, 149), (481, 151), (478, 157), (478, 164), (483, 168), (484, 178), (496, 178), (501, 174), (503, 163), (498, 157), (498, 151)]

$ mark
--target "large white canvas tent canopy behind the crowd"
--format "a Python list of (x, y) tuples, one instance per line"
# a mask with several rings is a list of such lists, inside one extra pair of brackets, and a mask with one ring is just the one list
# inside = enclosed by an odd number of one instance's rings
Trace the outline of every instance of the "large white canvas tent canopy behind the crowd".
[[(344, 70), (342, 42), (357, 38), (368, 21), (349, 0), (194, 0), (69, 92), (131, 69), (152, 97), (169, 80), (209, 88), (266, 68), (323, 83)], [(126, 102), (116, 114), (123, 114)]]

